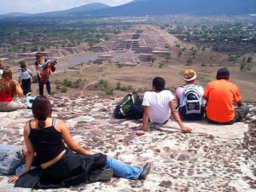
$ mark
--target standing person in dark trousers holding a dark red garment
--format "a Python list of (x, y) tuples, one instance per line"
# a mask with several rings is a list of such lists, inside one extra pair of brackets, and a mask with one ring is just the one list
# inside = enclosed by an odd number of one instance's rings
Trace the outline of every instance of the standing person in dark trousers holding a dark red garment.
[[(42, 83), (42, 77), (43, 77), (42, 75), (44, 73), (44, 68), (46, 67), (47, 60), (44, 59), (43, 55), (41, 55), (40, 53), (36, 54), (36, 59), (37, 59), (37, 61), (35, 62), (35, 67), (36, 67), (36, 71), (38, 73), (39, 95), (43, 96), (44, 95), (44, 83)], [(48, 79), (46, 79), (45, 84), (46, 84), (46, 90), (47, 90), (48, 94), (51, 95), (49, 77), (48, 77)]]

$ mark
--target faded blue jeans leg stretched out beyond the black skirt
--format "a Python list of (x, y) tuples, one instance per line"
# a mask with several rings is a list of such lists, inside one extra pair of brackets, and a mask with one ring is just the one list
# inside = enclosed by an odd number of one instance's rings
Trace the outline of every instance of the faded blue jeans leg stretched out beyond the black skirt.
[(108, 158), (105, 165), (106, 169), (112, 169), (113, 175), (117, 177), (123, 177), (128, 179), (138, 179), (140, 174), (143, 172), (143, 167), (140, 166), (130, 166), (118, 160), (113, 160)]

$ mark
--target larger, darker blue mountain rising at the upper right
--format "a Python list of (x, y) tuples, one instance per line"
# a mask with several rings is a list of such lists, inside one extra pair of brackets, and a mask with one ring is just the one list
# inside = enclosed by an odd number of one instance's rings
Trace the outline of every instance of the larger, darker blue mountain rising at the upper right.
[(117, 7), (90, 11), (91, 16), (249, 15), (255, 0), (135, 0)]

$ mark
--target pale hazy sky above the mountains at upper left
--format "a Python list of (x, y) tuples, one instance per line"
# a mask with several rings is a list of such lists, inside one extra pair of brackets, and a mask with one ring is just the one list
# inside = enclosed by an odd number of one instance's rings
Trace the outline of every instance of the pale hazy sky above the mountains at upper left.
[(105, 3), (110, 6), (116, 6), (131, 1), (132, 0), (0, 0), (0, 15), (10, 12), (34, 14), (65, 10), (89, 3)]

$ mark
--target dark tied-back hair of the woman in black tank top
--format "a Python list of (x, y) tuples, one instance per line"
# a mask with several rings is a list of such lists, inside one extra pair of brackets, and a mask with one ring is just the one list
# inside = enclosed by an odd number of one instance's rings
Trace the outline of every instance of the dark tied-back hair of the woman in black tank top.
[(44, 129), (45, 120), (51, 116), (51, 106), (46, 96), (37, 96), (32, 103), (32, 113), (38, 119), (38, 130)]

